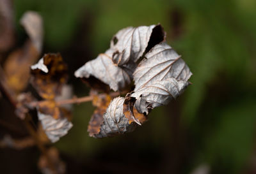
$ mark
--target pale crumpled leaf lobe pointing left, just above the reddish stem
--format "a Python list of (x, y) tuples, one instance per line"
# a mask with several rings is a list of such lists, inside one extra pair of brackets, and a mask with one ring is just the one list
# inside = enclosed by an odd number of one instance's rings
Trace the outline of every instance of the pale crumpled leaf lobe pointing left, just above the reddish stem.
[(132, 81), (129, 71), (118, 67), (112, 61), (113, 50), (107, 50), (105, 54), (99, 54), (96, 59), (86, 62), (84, 66), (77, 69), (75, 76), (78, 78), (89, 78), (95, 76), (109, 85), (113, 91), (124, 89)]

